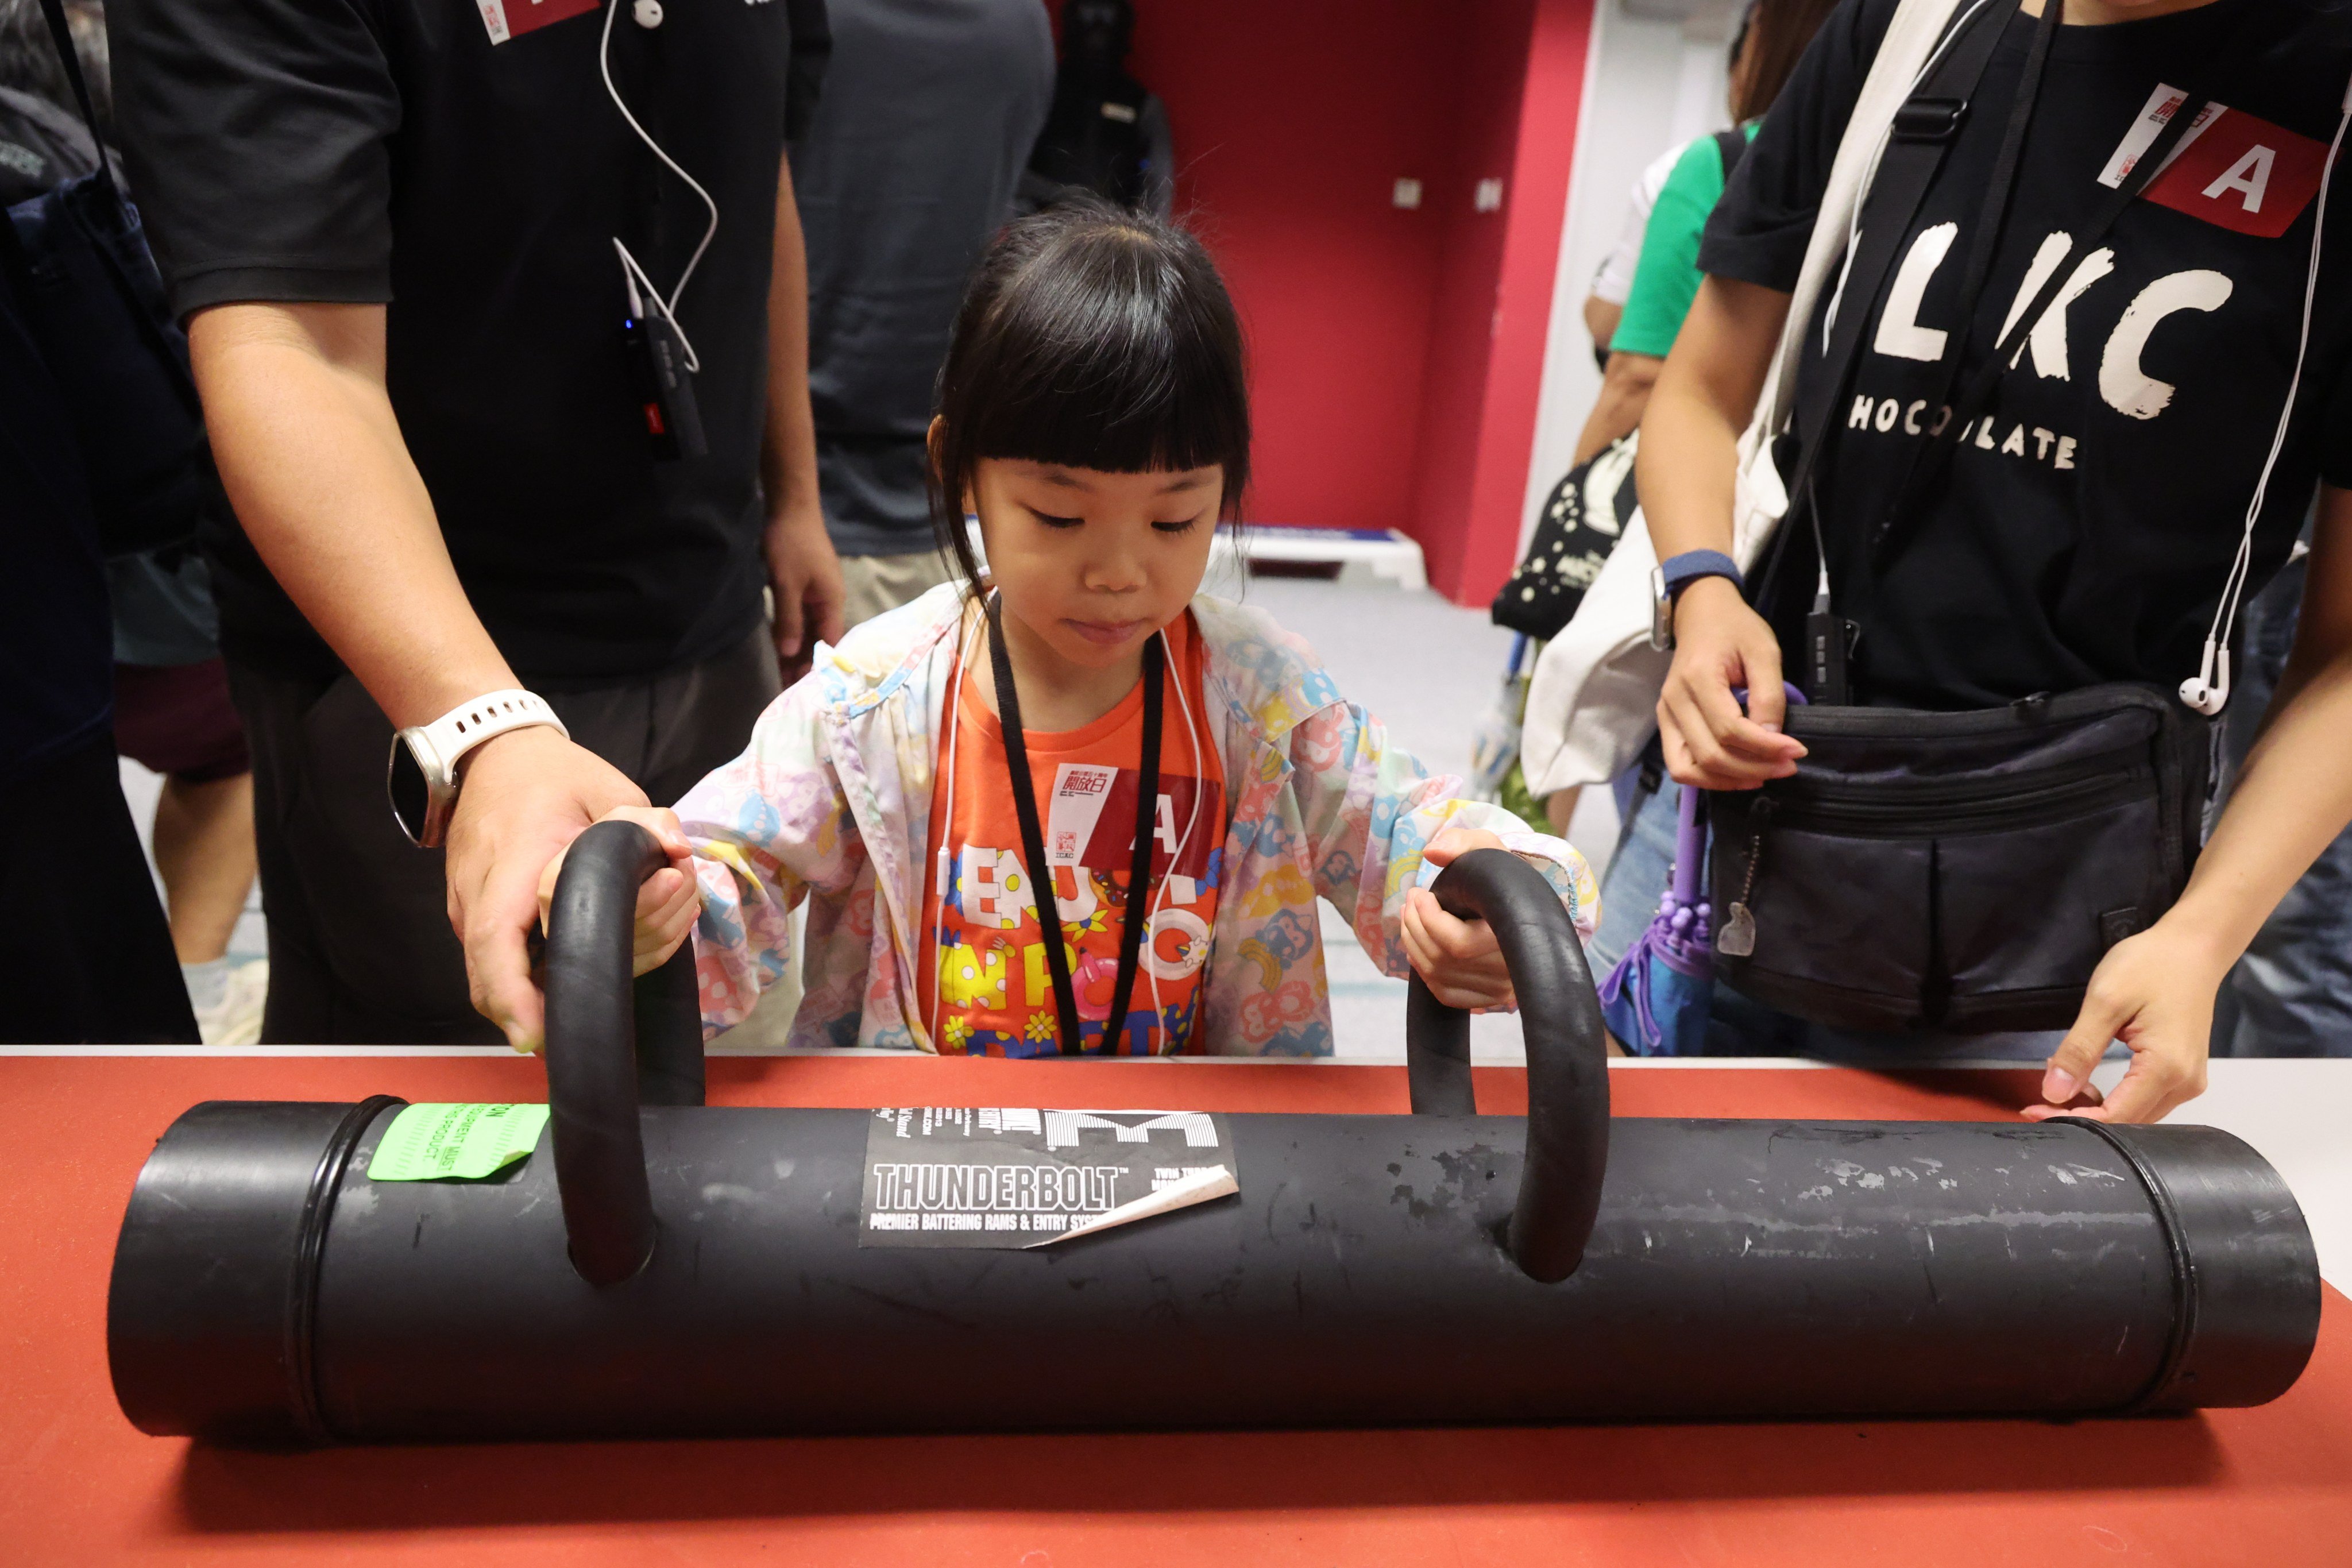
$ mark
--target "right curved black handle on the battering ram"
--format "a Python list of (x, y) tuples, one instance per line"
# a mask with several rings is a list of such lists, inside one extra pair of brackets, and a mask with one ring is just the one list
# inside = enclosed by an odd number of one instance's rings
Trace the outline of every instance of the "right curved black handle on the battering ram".
[[(1534, 865), (1472, 849), (1430, 886), (1461, 919), (1484, 919), (1503, 945), (1526, 1039), (1526, 1161), (1510, 1213), (1510, 1255), (1529, 1279), (1576, 1272), (1609, 1168), (1609, 1034), (1576, 924)], [(1404, 1001), (1404, 1072), (1414, 1112), (1472, 1117), (1470, 1013), (1416, 973)]]

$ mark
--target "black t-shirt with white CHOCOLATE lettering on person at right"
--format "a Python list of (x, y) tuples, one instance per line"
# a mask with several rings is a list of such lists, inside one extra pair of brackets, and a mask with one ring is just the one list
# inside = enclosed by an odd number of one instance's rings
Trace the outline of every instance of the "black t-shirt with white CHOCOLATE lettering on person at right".
[[(1994, 0), (2006, 5), (2006, 0)], [(1717, 205), (1705, 273), (1792, 289), (1813, 212), (1893, 0), (1846, 0), (1799, 63)], [(1863, 623), (1863, 696), (1973, 708), (2107, 679), (2194, 675), (2296, 367), (2319, 165), (2352, 75), (2340, 0), (2216, 0), (2065, 26), (1973, 322), (1962, 270), (2023, 75), (2011, 14), (1912, 233), (1870, 301), (1860, 362), (1830, 418), (1820, 503), (1837, 609)], [(2119, 148), (2164, 87), (2225, 113), (2089, 256), (2058, 256), (2112, 188)], [(2152, 136), (2145, 122), (2140, 136)], [(2143, 141), (2145, 146), (2145, 141)], [(2253, 585), (2286, 559), (2314, 480), (2352, 484), (2352, 179), (2333, 186), (2324, 270), (2288, 440), (2265, 491)], [(2279, 233), (2284, 226), (2284, 233)], [(2049, 247), (2049, 252), (2044, 252)], [(1940, 261), (1938, 261), (1940, 259)], [(1959, 444), (1910, 545), (1872, 576), (1870, 527), (1936, 421), (1943, 360), (1985, 362), (2023, 284), (2070, 273), (2065, 303)], [(2079, 292), (2074, 284), (2082, 284)], [(1830, 292), (1823, 292), (1825, 313)], [(1851, 301), (1844, 306), (1851, 308)], [(1818, 393), (1823, 315), (1799, 371)], [(1790, 642), (1811, 545), (1764, 604)]]

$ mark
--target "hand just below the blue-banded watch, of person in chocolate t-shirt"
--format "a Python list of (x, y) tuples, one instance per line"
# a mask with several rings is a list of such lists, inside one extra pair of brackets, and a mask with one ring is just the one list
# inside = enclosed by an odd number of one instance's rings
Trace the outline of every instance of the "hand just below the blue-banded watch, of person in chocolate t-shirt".
[[(1731, 696), (1748, 686), (1748, 712)], [(1675, 783), (1755, 790), (1788, 778), (1804, 743), (1780, 733), (1780, 642), (1726, 578), (1698, 578), (1675, 602), (1675, 665), (1658, 693), (1658, 738)]]

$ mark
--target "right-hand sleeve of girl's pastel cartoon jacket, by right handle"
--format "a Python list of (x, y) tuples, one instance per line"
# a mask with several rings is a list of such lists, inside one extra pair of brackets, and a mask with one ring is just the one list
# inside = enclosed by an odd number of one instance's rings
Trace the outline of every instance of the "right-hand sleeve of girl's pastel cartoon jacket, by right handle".
[(1461, 799), (1463, 780), (1430, 776), (1388, 729), (1355, 703), (1317, 708), (1289, 736), (1294, 790), (1310, 842), (1315, 891), (1348, 912), (1364, 952), (1390, 976), (1409, 973), (1404, 896), (1421, 851), (1446, 827), (1484, 827), (1536, 865), (1559, 893), (1576, 933), (1599, 924), (1592, 867), (1564, 839), (1531, 832), (1501, 806)]

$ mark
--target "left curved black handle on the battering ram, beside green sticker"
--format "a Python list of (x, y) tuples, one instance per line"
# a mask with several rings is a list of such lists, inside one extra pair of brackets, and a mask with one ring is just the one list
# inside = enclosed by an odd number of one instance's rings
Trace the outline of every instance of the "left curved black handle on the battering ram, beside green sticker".
[(597, 823), (564, 851), (548, 907), (548, 1119), (572, 1267), (593, 1286), (654, 1255), (640, 1105), (703, 1103), (694, 943), (630, 985), (637, 884), (668, 865), (644, 827)]

